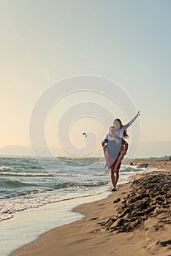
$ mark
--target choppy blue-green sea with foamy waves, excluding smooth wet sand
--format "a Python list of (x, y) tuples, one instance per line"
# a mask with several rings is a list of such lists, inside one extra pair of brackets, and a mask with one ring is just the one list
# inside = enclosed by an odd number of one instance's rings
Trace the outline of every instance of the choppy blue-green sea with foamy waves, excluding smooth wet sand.
[[(103, 163), (87, 166), (73, 161), (72, 165), (58, 162), (56, 166), (50, 159), (43, 161), (49, 166), (50, 172), (39, 167), (34, 159), (1, 158), (0, 221), (12, 218), (16, 211), (91, 196), (110, 189), (110, 172), (103, 168)], [(136, 173), (147, 171), (122, 166), (119, 183), (128, 181)]]

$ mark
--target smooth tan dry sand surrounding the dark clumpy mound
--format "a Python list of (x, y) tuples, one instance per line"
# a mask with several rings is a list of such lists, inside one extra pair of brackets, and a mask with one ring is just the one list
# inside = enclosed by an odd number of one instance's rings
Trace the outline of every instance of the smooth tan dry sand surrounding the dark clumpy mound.
[[(142, 161), (141, 161), (142, 162)], [(148, 162), (148, 161), (145, 161)], [(158, 173), (168, 173), (170, 171), (170, 162), (165, 163), (155, 162), (152, 166), (151, 163), (149, 167), (159, 167), (161, 169), (167, 169), (166, 171), (159, 171)], [(153, 162), (154, 163), (154, 162)], [(153, 164), (152, 163), (152, 164)], [(154, 172), (150, 175), (156, 175)], [(138, 175), (137, 178), (141, 178), (145, 175)], [(80, 206), (77, 206), (73, 211), (80, 212), (85, 215), (83, 219), (72, 222), (69, 225), (64, 225), (62, 227), (56, 227), (53, 230), (43, 234), (39, 239), (21, 247), (17, 251), (12, 253), (12, 256), (27, 256), (27, 255), (151, 255), (151, 252), (156, 253), (156, 255), (167, 255), (167, 249), (169, 244), (166, 246), (161, 246), (161, 242), (167, 241), (168, 234), (167, 228), (160, 233), (164, 233), (161, 237), (161, 241), (158, 237), (156, 241), (156, 235), (159, 235), (154, 226), (157, 222), (156, 217), (152, 217), (151, 223), (152, 227), (148, 227), (150, 224), (146, 225), (146, 229), (142, 227), (132, 230), (130, 233), (118, 233), (115, 234), (115, 241), (113, 241), (113, 233), (106, 231), (99, 223), (106, 222), (110, 217), (113, 217), (113, 212), (116, 211), (116, 208), (119, 205), (119, 202), (123, 200), (123, 197), (127, 195), (130, 191), (130, 184), (132, 181), (127, 184), (121, 184), (118, 186), (118, 191), (111, 194), (109, 197), (98, 200), (93, 203), (86, 203)], [(118, 200), (120, 198), (120, 200)], [(118, 200), (117, 203), (113, 203)], [(164, 229), (164, 228), (163, 228)], [(154, 239), (151, 240), (150, 236), (147, 236), (147, 232), (151, 233), (151, 237)], [(144, 239), (145, 238), (145, 239)], [(165, 240), (164, 240), (165, 239)], [(117, 244), (117, 246), (113, 246)], [(131, 244), (130, 244), (131, 243)], [(158, 244), (157, 244), (158, 243)], [(164, 251), (165, 249), (165, 251)], [(102, 253), (101, 253), (102, 252)], [(115, 254), (117, 252), (117, 254)], [(139, 254), (138, 254), (139, 253)]]

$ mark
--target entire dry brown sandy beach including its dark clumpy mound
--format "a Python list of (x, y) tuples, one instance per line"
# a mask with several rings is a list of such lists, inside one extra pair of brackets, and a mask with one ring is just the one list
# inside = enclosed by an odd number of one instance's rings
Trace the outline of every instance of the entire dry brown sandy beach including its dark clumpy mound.
[(74, 211), (84, 219), (50, 230), (12, 256), (171, 255), (171, 161), (138, 163), (161, 171), (138, 175), (107, 199), (78, 206)]

